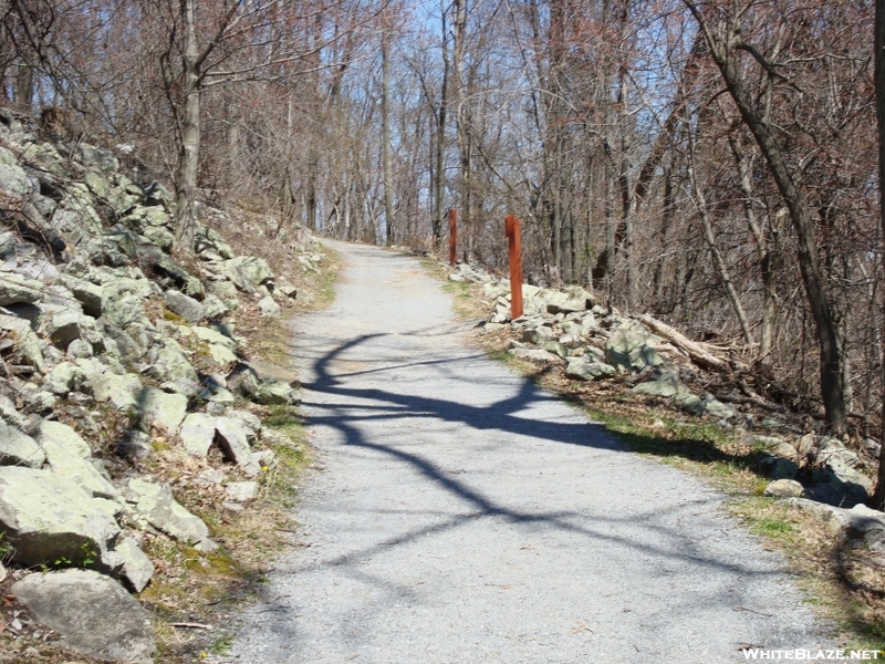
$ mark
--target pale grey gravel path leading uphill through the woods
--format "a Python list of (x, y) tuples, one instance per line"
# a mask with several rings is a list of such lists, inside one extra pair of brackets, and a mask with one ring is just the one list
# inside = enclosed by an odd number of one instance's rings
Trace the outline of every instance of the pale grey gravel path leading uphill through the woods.
[(330, 245), (337, 299), (294, 341), (319, 467), (227, 661), (716, 664), (826, 644), (721, 495), (470, 347), (414, 259)]

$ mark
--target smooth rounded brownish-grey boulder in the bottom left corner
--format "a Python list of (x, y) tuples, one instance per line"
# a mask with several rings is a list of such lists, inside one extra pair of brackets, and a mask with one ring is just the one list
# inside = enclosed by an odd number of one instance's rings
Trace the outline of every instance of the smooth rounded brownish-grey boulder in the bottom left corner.
[(146, 664), (156, 650), (150, 620), (113, 579), (90, 570), (33, 573), (11, 592), (64, 646), (112, 662)]

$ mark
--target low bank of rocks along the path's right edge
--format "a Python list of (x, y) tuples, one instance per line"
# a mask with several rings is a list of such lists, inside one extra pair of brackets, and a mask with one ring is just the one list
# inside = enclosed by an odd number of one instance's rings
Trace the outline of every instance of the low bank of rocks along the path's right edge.
[[(581, 287), (563, 290), (523, 284), (524, 312), (510, 320), (510, 281), (476, 266), (459, 264), (449, 280), (481, 284), (491, 311), (487, 333), (504, 332), (509, 353), (560, 366), (579, 382), (617, 382), (629, 393), (669, 405), (690, 417), (706, 417), (736, 429), (764, 454), (758, 470), (771, 477), (766, 495), (823, 517), (843, 535), (885, 552), (885, 513), (863, 504), (873, 490), (881, 448), (861, 450), (819, 435), (788, 418), (748, 385), (749, 369), (695, 342), (650, 315), (625, 315), (604, 307)], [(718, 386), (717, 394), (704, 390)]]

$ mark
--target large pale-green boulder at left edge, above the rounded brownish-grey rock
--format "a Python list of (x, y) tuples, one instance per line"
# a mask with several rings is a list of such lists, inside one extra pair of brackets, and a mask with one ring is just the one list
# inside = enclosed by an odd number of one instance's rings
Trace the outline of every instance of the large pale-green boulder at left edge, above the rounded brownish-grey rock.
[(13, 560), (27, 566), (104, 554), (119, 533), (104, 502), (49, 470), (0, 468), (0, 528)]

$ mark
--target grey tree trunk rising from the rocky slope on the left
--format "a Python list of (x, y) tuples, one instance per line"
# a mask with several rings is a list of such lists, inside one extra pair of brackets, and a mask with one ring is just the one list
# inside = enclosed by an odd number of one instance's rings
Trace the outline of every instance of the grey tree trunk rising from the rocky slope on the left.
[(197, 170), (200, 160), (200, 73), (197, 64), (197, 35), (194, 0), (181, 0), (185, 51), (181, 56), (185, 70), (185, 115), (181, 129), (181, 149), (175, 177), (175, 248), (194, 250), (197, 225)]

